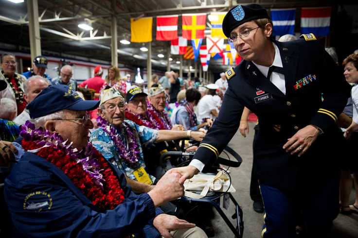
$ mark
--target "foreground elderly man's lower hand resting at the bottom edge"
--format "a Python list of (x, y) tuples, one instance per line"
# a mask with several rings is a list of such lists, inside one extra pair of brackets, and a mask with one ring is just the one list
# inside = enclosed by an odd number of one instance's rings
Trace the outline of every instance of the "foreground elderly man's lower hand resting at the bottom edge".
[(165, 238), (173, 238), (173, 236), (169, 233), (171, 230), (195, 227), (195, 224), (193, 223), (180, 220), (175, 216), (167, 215), (164, 213), (159, 214), (154, 218), (153, 225)]

